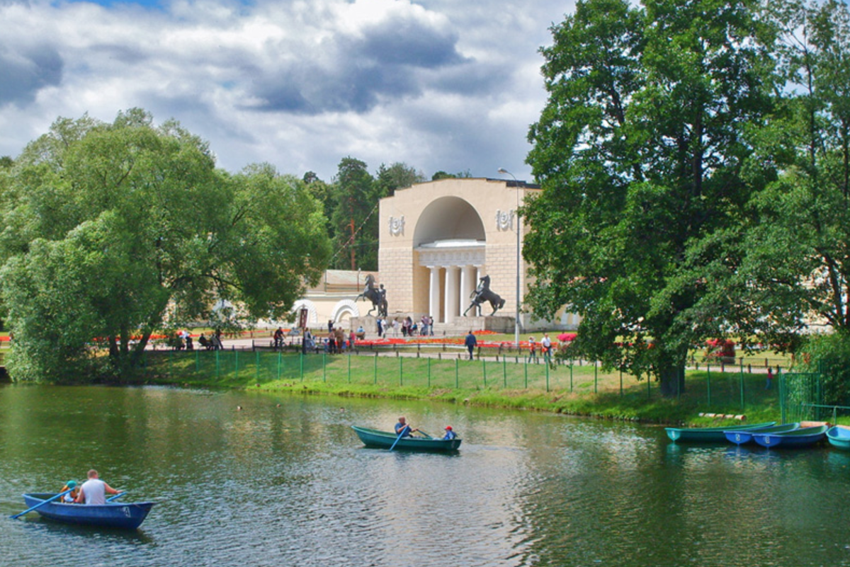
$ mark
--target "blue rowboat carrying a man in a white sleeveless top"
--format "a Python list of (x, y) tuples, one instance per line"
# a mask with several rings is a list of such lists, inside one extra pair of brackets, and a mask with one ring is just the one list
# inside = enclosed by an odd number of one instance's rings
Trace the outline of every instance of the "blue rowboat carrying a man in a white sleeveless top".
[[(31, 492), (24, 495), (24, 502), (28, 507), (32, 507), (54, 496), (56, 496), (55, 492)], [(45, 518), (65, 522), (65, 524), (135, 530), (147, 518), (154, 504), (156, 502), (109, 502), (107, 504), (48, 502), (36, 508), (35, 511)]]

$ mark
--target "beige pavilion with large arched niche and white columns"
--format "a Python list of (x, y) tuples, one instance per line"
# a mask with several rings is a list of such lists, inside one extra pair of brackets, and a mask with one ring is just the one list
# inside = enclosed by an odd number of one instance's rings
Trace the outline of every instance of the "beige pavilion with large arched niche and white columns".
[[(378, 262), (390, 313), (428, 314), (437, 323), (462, 323), (456, 318), (469, 306), (479, 278), (489, 275), (490, 289), (505, 300), (498, 314), (513, 317), (516, 209), (538, 190), (513, 180), (441, 179), (381, 199)], [(522, 259), (520, 273), (524, 295)], [(482, 307), (484, 315), (491, 311), (489, 305)]]

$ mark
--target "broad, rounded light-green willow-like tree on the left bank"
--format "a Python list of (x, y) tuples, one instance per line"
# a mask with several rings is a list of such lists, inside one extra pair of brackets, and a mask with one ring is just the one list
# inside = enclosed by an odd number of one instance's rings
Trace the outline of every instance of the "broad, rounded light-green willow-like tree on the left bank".
[(208, 318), (218, 299), (280, 317), (330, 255), (298, 180), (218, 171), (207, 143), (139, 109), (112, 124), (59, 119), (4, 185), (16, 379), (120, 374), (157, 328)]

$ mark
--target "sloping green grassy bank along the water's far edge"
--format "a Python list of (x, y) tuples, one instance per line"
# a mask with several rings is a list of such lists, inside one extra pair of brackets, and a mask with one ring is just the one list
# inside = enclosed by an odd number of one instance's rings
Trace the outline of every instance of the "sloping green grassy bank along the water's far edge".
[(628, 419), (661, 424), (706, 424), (700, 413), (779, 416), (776, 389), (764, 375), (691, 371), (685, 390), (660, 395), (658, 384), (583, 365), (516, 359), (460, 360), (405, 356), (323, 356), (271, 351), (160, 351), (133, 380), (337, 396), (437, 400), (484, 407)]

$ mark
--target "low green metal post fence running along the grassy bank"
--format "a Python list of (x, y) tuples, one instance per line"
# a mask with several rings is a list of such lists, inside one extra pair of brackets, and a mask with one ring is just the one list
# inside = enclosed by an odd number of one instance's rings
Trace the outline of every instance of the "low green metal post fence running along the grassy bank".
[[(660, 397), (654, 380), (641, 379), (622, 371), (604, 372), (593, 362), (564, 359), (547, 363), (543, 357), (504, 354), (468, 360), (456, 353), (360, 351), (348, 354), (279, 352), (271, 350), (149, 351), (144, 371), (181, 380), (253, 385), (272, 380), (289, 383), (321, 381), (331, 384), (411, 386), (440, 389), (541, 390), (558, 395), (594, 394), (640, 398)], [(686, 374), (685, 388), (677, 393), (682, 401), (707, 410), (745, 411), (778, 396), (768, 389), (764, 373), (751, 368), (702, 365)]]

